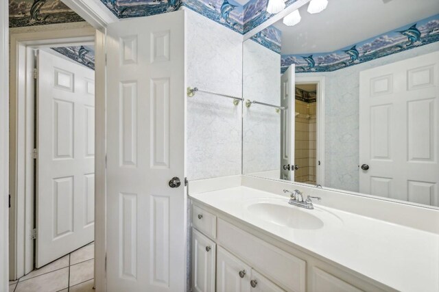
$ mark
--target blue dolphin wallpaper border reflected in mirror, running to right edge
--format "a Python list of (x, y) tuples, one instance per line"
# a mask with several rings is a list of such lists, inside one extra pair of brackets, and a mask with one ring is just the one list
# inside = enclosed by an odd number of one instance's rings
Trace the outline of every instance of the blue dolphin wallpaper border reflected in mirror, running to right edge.
[(296, 72), (331, 72), (439, 41), (439, 14), (410, 23), (346, 48), (329, 52), (282, 55), (281, 72), (296, 64)]

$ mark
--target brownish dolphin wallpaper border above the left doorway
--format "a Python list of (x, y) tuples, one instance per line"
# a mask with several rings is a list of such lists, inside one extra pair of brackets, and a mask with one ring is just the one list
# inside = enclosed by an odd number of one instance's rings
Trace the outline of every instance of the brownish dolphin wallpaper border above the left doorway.
[(61, 0), (10, 0), (9, 27), (75, 23), (84, 19)]

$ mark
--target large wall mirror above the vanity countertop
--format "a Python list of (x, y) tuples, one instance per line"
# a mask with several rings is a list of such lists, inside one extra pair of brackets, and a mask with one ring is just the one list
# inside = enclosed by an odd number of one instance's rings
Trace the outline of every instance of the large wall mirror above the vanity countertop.
[(243, 173), (439, 207), (438, 1), (298, 12), (244, 41)]

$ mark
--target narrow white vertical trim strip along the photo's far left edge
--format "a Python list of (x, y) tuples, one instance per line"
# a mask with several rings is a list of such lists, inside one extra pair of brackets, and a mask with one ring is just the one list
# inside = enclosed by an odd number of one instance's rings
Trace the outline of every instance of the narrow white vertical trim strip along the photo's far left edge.
[(9, 1), (0, 0), (0, 291), (8, 291)]

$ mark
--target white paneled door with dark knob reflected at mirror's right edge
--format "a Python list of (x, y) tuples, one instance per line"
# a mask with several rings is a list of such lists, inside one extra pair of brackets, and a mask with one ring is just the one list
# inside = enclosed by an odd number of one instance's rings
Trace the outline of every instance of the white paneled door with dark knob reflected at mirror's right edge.
[(439, 52), (360, 73), (361, 193), (439, 207)]

